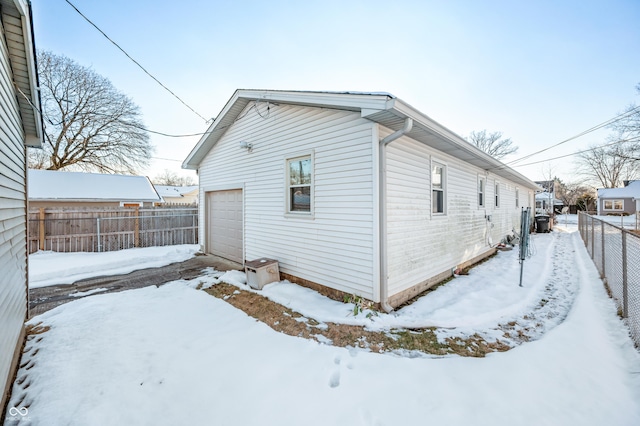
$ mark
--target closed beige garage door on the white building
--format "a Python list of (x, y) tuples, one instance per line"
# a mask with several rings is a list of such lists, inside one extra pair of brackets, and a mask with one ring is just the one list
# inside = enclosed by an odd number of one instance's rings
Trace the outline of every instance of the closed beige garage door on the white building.
[(242, 190), (207, 192), (206, 202), (207, 253), (243, 263)]

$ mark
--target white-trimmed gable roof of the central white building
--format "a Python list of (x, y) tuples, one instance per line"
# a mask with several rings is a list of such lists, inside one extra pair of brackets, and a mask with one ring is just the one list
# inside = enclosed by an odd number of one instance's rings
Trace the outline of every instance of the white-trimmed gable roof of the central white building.
[(236, 90), (216, 120), (184, 160), (182, 167), (197, 169), (208, 152), (238, 119), (247, 104), (252, 101), (359, 112), (363, 118), (394, 131), (403, 127), (406, 118), (411, 118), (414, 124), (412, 129), (406, 133), (407, 136), (527, 188), (539, 189), (533, 181), (476, 148), (409, 104), (385, 92)]

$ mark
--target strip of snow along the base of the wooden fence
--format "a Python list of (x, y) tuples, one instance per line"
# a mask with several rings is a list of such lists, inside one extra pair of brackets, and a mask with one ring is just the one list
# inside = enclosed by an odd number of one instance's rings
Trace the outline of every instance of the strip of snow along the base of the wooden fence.
[(38, 251), (29, 255), (29, 287), (72, 284), (102, 275), (128, 274), (192, 258), (198, 244), (133, 248), (105, 253), (57, 253)]

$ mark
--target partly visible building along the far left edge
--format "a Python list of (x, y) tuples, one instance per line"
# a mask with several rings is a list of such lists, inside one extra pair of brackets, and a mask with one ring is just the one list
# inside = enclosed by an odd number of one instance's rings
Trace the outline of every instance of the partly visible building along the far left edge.
[(1, 414), (25, 336), (28, 306), (26, 147), (41, 146), (42, 118), (29, 3), (0, 0), (0, 24)]

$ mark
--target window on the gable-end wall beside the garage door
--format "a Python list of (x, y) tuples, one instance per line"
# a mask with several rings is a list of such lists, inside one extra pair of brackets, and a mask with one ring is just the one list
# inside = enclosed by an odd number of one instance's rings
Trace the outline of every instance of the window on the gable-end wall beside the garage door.
[(287, 160), (287, 213), (311, 213), (311, 156)]

